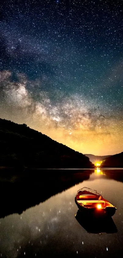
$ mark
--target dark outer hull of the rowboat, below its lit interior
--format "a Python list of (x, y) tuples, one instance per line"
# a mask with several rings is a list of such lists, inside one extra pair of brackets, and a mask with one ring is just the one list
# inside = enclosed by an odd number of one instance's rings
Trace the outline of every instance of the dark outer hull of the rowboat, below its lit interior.
[(83, 216), (94, 216), (94, 217), (112, 217), (116, 211), (115, 207), (106, 207), (106, 208), (85, 208), (78, 204), (76, 197), (75, 203), (78, 206), (78, 209), (81, 211)]

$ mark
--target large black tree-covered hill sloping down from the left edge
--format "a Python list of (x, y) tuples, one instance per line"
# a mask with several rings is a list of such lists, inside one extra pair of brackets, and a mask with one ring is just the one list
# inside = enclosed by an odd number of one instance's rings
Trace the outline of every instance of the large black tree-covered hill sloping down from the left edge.
[(0, 118), (0, 166), (93, 168), (89, 158), (26, 124)]

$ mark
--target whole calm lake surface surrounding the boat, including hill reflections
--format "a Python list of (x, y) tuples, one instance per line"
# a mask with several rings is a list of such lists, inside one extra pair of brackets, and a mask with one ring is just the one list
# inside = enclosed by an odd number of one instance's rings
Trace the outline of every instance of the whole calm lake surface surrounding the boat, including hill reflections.
[[(123, 169), (56, 170), (56, 176), (50, 170), (50, 178), (44, 173), (36, 184), (27, 174), (23, 187), (14, 186), (17, 176), (2, 180), (0, 256), (122, 257)], [(82, 187), (97, 190), (117, 207), (108, 223), (77, 220), (74, 198)]]

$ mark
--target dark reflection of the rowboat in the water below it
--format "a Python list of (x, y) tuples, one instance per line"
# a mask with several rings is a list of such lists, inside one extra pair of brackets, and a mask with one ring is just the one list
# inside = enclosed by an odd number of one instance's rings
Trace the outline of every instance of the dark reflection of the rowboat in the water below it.
[(75, 218), (88, 233), (99, 234), (105, 232), (111, 234), (118, 232), (112, 217), (94, 218), (90, 216), (87, 218), (82, 216), (82, 213), (78, 210)]

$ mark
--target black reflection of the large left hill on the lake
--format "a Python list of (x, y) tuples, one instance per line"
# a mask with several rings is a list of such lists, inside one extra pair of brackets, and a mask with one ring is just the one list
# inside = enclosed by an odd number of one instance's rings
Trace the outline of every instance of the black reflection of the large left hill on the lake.
[(0, 218), (22, 213), (75, 184), (88, 180), (93, 170), (28, 170), (23, 173), (1, 170)]

